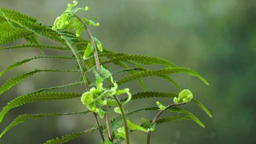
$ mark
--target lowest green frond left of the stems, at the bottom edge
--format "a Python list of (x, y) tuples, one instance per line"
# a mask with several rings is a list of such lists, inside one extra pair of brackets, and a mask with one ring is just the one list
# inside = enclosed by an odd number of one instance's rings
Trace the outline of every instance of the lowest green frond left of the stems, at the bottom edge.
[(80, 133), (72, 133), (72, 134), (68, 134), (68, 135), (64, 135), (61, 136), (61, 138), (56, 137), (55, 139), (51, 139), (46, 141), (44, 144), (64, 144), (67, 143), (73, 139), (78, 138), (79, 136), (85, 134), (85, 133), (92, 133), (94, 132), (94, 130), (96, 130), (97, 128), (91, 128), (89, 130), (80, 132)]

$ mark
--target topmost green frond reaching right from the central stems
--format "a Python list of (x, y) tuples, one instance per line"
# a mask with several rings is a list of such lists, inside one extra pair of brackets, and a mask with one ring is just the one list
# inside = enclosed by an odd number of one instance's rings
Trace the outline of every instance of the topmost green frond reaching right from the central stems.
[[(116, 57), (120, 55), (119, 57)], [(113, 54), (113, 53), (107, 53), (107, 54), (102, 54), (102, 56), (106, 57), (114, 57), (105, 63), (110, 63), (110, 62), (117, 62), (117, 61), (134, 61), (137, 63), (142, 63), (142, 64), (161, 64), (166, 67), (177, 67), (173, 63), (163, 59), (163, 58), (158, 58), (158, 57), (150, 57), (150, 56), (142, 56), (142, 55), (130, 55), (130, 54)]]

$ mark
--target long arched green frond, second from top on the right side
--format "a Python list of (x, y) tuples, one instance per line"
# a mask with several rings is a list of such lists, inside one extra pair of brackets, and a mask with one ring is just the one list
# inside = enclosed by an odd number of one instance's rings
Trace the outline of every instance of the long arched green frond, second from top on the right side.
[(130, 74), (128, 76), (125, 76), (121, 80), (117, 81), (118, 84), (126, 83), (128, 81), (136, 80), (139, 78), (147, 77), (147, 76), (159, 76), (159, 75), (165, 75), (165, 74), (174, 74), (174, 73), (187, 73), (192, 76), (198, 77), (201, 81), (203, 81), (205, 84), (209, 85), (209, 83), (201, 77), (198, 73), (187, 69), (187, 68), (181, 68), (181, 67), (175, 67), (175, 68), (165, 68), (162, 70), (158, 71), (151, 71), (151, 70), (145, 70), (145, 71), (140, 71), (136, 72), (133, 74)]

